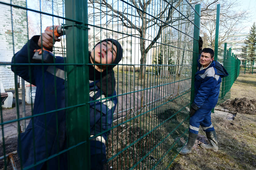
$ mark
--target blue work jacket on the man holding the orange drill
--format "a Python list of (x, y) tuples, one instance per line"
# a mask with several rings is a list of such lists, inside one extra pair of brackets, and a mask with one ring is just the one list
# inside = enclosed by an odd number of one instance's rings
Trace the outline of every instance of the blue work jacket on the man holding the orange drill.
[[(34, 49), (40, 48), (37, 45), (39, 37), (32, 37), (13, 56), (12, 63), (29, 63), (29, 59), (31, 60), (34, 55)], [(65, 63), (64, 60), (62, 57), (56, 57), (55, 63)], [(36, 86), (33, 115), (42, 114), (31, 118), (26, 131), (19, 134), (18, 155), (24, 168), (36, 163), (35, 167), (30, 168), (31, 170), (47, 168), (50, 170), (67, 169), (67, 152), (49, 158), (68, 148), (66, 141), (66, 116), (68, 114), (65, 109), (51, 112), (56, 109), (66, 108), (66, 72), (64, 67), (64, 65), (12, 65), (11, 67), (14, 73)], [(111, 100), (104, 99), (104, 93), (94, 82), (89, 84), (89, 88), (90, 101), (97, 100), (90, 103), (91, 135), (95, 134), (96, 136), (103, 137), (95, 145), (91, 145), (91, 154), (106, 154), (104, 148), (106, 143), (103, 142), (108, 134), (106, 132), (101, 134), (100, 132), (111, 127), (117, 98), (114, 97)], [(92, 95), (92, 93), (95, 95)], [(115, 92), (113, 95), (115, 95)], [(82, 134), (82, 132), (80, 133)], [(42, 162), (38, 163), (39, 161)], [(47, 163), (45, 164), (46, 161)]]

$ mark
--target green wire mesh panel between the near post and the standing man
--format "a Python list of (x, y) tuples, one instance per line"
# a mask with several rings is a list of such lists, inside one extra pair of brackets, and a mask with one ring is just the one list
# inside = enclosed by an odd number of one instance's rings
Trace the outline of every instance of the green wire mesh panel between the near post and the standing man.
[[(92, 25), (90, 30), (94, 32), (92, 42), (96, 42), (97, 34), (106, 35), (119, 39), (124, 49), (123, 60), (115, 68), (119, 107), (108, 139), (108, 166), (167, 169), (187, 139), (194, 9), (186, 1), (152, 1), (148, 8), (136, 3), (114, 3), (113, 6), (123, 6), (118, 10), (105, 9), (103, 3), (97, 7), (96, 1), (93, 2), (95, 11), (102, 9), (102, 15), (107, 11), (113, 16), (119, 12), (122, 18), (130, 17), (128, 13), (135, 16), (130, 18), (132, 24), (127, 20), (115, 24), (115, 20), (107, 16), (110, 21), (101, 19), (101, 23)], [(160, 10), (164, 12), (158, 19)], [(167, 20), (169, 15), (175, 23)], [(93, 16), (95, 21), (97, 16)], [(107, 22), (111, 24), (104, 27)], [(159, 30), (163, 24), (167, 27)], [(98, 27), (103, 31), (96, 32)], [(151, 52), (143, 51), (150, 47)], [(141, 56), (146, 57), (147, 62), (140, 59)]]

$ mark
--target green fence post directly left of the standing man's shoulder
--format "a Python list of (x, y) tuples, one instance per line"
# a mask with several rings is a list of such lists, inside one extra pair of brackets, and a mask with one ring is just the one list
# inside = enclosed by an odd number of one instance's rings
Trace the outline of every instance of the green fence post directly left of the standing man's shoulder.
[(191, 77), (191, 94), (190, 94), (190, 103), (194, 101), (195, 98), (195, 73), (197, 71), (197, 60), (199, 53), (199, 31), (200, 31), (200, 16), (201, 16), (201, 5), (195, 5), (195, 22), (194, 22), (194, 40), (193, 40), (193, 59), (192, 59), (192, 77)]

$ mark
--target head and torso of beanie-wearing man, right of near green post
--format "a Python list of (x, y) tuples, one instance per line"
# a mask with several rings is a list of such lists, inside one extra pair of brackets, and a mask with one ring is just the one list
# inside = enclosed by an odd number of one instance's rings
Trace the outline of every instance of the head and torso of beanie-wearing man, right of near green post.
[[(105, 101), (104, 98), (115, 96), (115, 76), (113, 68), (121, 61), (123, 50), (120, 43), (114, 39), (104, 39), (98, 42), (89, 54), (89, 80), (90, 101)], [(96, 86), (95, 86), (96, 85)], [(98, 94), (99, 91), (103, 93)], [(110, 131), (94, 138), (104, 130), (111, 128), (113, 113), (117, 104), (117, 98), (111, 98), (107, 102), (96, 101), (90, 106), (91, 127), (91, 169), (106, 169), (106, 139)], [(111, 105), (110, 107), (105, 107)]]

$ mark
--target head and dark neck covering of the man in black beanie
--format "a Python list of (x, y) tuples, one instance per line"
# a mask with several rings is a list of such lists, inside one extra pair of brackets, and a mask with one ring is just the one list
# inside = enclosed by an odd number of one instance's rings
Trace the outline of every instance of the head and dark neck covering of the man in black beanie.
[(89, 80), (101, 80), (96, 85), (106, 95), (112, 94), (115, 90), (113, 68), (121, 61), (122, 57), (123, 49), (120, 43), (111, 38), (98, 42), (92, 52), (89, 52)]

